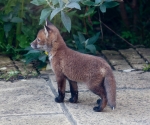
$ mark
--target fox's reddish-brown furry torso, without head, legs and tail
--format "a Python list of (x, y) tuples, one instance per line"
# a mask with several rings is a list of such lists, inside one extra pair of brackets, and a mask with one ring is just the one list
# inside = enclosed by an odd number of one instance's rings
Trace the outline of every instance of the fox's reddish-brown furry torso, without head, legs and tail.
[(55, 58), (59, 59), (63, 74), (78, 82), (88, 82), (94, 77), (105, 77), (107, 71), (111, 69), (104, 59), (82, 54), (69, 48), (64, 48), (60, 53), (57, 52), (54, 60)]

